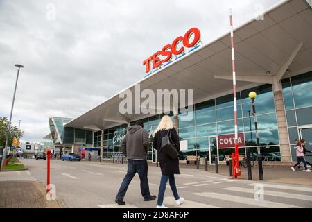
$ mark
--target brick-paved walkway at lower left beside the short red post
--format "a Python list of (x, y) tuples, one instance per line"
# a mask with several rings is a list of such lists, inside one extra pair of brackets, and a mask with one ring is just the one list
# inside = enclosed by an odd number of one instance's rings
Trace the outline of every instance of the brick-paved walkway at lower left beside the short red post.
[(0, 208), (61, 208), (62, 199), (46, 200), (46, 188), (29, 171), (0, 172)]

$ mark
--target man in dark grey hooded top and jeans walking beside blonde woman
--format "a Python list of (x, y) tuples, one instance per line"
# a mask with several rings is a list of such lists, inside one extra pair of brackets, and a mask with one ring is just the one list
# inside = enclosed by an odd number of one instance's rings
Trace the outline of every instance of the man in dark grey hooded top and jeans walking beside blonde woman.
[(121, 142), (121, 150), (123, 155), (128, 159), (128, 171), (123, 178), (118, 194), (116, 195), (116, 203), (125, 205), (123, 198), (127, 192), (128, 186), (135, 173), (139, 174), (141, 181), (141, 194), (144, 201), (155, 200), (156, 196), (150, 195), (150, 188), (148, 186), (148, 164), (146, 161), (146, 153), (148, 148), (148, 133), (143, 128), (143, 123), (137, 121), (136, 126), (130, 126), (128, 133)]

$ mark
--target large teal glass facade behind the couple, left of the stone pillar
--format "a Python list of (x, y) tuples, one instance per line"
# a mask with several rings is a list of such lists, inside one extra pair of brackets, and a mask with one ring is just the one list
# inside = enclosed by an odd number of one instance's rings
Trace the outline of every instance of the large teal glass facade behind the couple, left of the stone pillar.
[[(251, 101), (248, 98), (250, 91), (257, 92), (256, 111), (259, 128), (259, 142), (261, 151), (266, 153), (279, 153), (279, 135), (277, 132), (277, 117), (275, 113), (274, 95), (272, 85), (261, 85), (252, 89), (237, 92), (237, 110), (239, 133), (245, 136), (245, 148), (257, 153), (256, 133), (254, 131), (254, 118), (250, 114)], [(182, 158), (187, 155), (207, 155), (209, 152), (209, 136), (228, 135), (234, 133), (234, 103), (233, 94), (216, 99), (197, 103), (194, 105), (193, 119), (181, 121), (182, 114), (178, 114), (179, 137), (187, 140), (187, 151), (181, 151)], [(173, 114), (170, 114), (173, 118)], [(148, 159), (155, 160), (155, 152), (151, 146), (153, 131), (157, 127), (162, 114), (141, 119), (144, 128), (148, 131), (150, 146)], [(130, 123), (130, 125), (135, 122)], [(111, 157), (120, 152), (120, 142), (126, 133), (126, 125), (104, 130), (103, 157)], [(101, 146), (101, 132), (94, 133), (94, 147)], [(234, 148), (219, 149), (219, 155), (229, 155)], [(181, 159), (182, 160), (182, 159)]]

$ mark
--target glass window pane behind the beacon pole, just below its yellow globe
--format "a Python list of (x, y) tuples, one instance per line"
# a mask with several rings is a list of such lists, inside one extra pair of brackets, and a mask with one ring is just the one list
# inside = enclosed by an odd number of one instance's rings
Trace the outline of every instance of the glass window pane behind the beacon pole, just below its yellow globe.
[[(257, 114), (264, 114), (268, 112), (275, 112), (274, 99), (255, 100)], [(249, 111), (252, 110), (251, 100), (249, 103), (243, 103), (243, 115), (249, 117)]]

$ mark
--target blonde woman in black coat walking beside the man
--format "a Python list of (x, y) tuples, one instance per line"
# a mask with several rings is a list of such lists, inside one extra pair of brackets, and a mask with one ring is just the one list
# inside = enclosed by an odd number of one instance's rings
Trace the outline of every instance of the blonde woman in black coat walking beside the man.
[(153, 140), (153, 148), (157, 150), (157, 158), (160, 165), (160, 169), (162, 171), (162, 178), (160, 180), (160, 186), (158, 191), (158, 200), (157, 200), (157, 208), (166, 208), (164, 205), (164, 193), (166, 190), (166, 185), (169, 180), (169, 185), (171, 187), (171, 191), (173, 192), (173, 196), (175, 197), (175, 203), (180, 205), (183, 203), (184, 198), (180, 197), (177, 194), (177, 187), (175, 185), (175, 174), (180, 174), (179, 170), (179, 157), (172, 159), (170, 155), (168, 155), (167, 147), (162, 148), (162, 138), (168, 135), (171, 139), (173, 146), (177, 149), (177, 152), (180, 151), (180, 140), (177, 135), (177, 130), (173, 128), (173, 122), (171, 121), (168, 115), (164, 115), (159, 125), (155, 130), (155, 136)]

